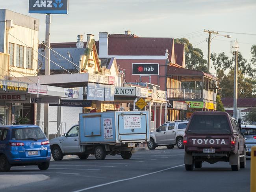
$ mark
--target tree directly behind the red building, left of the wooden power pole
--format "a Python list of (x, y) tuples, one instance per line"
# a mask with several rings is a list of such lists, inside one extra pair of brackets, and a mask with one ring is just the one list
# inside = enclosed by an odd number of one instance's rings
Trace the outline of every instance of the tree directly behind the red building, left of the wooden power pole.
[(186, 38), (174, 39), (174, 43), (185, 44), (186, 67), (192, 70), (207, 71), (207, 61), (199, 48), (193, 48), (192, 44)]

